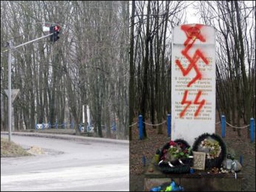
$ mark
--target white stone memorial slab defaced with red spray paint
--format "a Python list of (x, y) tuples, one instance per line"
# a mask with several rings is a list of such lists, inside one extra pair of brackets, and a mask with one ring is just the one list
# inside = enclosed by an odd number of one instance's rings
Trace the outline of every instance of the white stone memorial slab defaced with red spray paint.
[(172, 49), (172, 140), (190, 146), (215, 133), (215, 30), (204, 25), (174, 28)]

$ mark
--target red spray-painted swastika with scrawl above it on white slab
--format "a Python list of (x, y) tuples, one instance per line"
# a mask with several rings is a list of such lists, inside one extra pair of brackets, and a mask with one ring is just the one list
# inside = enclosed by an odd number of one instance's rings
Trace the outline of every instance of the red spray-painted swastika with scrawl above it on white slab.
[(181, 29), (186, 33), (186, 36), (187, 36), (187, 39), (184, 42), (185, 49), (182, 50), (181, 53), (189, 61), (189, 65), (185, 69), (178, 59), (175, 61), (175, 63), (181, 69), (183, 76), (188, 75), (192, 68), (194, 68), (194, 70), (196, 71), (196, 76), (187, 84), (187, 87), (190, 87), (197, 80), (202, 79), (202, 74), (200, 73), (200, 70), (197, 66), (198, 60), (201, 58), (205, 64), (209, 64), (208, 60), (204, 57), (203, 53), (200, 50), (196, 50), (195, 54), (192, 57), (188, 55), (188, 51), (190, 50), (191, 47), (193, 47), (193, 44), (195, 43), (196, 39), (199, 39), (200, 41), (205, 42), (204, 37), (200, 33), (201, 28), (202, 28), (202, 25), (198, 25), (198, 24), (195, 25), (195, 27), (190, 27), (187, 25), (184, 25), (181, 27)]

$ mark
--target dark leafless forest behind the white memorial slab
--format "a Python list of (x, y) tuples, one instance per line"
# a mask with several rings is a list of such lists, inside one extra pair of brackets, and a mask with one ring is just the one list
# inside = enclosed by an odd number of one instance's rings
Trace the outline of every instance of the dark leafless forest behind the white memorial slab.
[[(130, 125), (139, 114), (156, 125), (170, 113), (172, 29), (187, 24), (189, 7), (200, 24), (216, 31), (216, 114), (238, 127), (250, 124), (255, 118), (255, 2), (133, 1)], [(163, 132), (162, 125), (157, 129)], [(130, 140), (131, 135), (130, 129)]]

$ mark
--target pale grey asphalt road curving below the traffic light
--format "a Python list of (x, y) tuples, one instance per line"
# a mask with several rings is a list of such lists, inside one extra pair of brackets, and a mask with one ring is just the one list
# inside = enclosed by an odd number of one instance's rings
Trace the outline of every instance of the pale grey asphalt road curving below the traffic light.
[(17, 135), (12, 141), (45, 154), (2, 157), (1, 191), (129, 191), (128, 142)]

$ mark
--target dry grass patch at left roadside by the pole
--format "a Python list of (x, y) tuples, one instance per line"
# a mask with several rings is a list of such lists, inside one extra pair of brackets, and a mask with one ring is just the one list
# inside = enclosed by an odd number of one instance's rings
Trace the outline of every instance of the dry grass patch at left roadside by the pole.
[(1, 157), (22, 157), (30, 155), (30, 153), (16, 143), (1, 137)]

